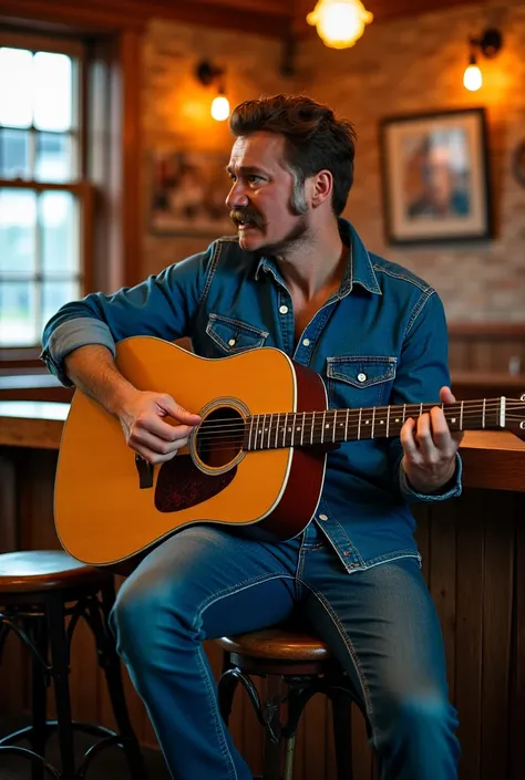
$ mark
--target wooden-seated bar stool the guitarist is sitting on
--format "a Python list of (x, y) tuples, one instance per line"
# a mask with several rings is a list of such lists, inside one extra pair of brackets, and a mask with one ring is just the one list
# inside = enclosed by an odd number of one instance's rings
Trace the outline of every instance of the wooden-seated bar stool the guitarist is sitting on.
[[(282, 752), (284, 780), (291, 780), (299, 718), (315, 694), (325, 694), (332, 705), (338, 780), (352, 780), (351, 704), (356, 690), (327, 645), (308, 628), (277, 626), (240, 636), (216, 639), (225, 651), (218, 685), (220, 714), (228, 724), (234, 694), (240, 683), (265, 728), (262, 780), (279, 780)], [(261, 701), (251, 675), (266, 677)], [(282, 705), (287, 705), (286, 721)]]

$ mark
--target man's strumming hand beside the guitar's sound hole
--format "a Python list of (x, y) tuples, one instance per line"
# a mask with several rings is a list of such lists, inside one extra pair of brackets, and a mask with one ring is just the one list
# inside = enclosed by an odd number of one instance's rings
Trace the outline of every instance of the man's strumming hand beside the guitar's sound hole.
[[(200, 423), (166, 393), (135, 391), (117, 413), (127, 446), (150, 464), (171, 460)], [(166, 423), (169, 417), (174, 424)]]

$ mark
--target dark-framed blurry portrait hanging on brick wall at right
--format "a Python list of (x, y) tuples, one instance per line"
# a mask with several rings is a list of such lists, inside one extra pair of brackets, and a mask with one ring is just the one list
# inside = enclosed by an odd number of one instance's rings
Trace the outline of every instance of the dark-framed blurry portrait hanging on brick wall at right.
[(390, 243), (490, 238), (486, 138), (483, 108), (382, 121), (383, 204)]

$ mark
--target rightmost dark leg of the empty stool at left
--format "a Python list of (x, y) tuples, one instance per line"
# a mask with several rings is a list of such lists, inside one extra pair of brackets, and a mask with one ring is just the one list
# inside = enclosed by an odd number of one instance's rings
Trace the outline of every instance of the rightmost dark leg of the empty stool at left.
[(102, 590), (102, 607), (104, 621), (102, 621), (99, 610), (95, 607), (90, 612), (90, 625), (93, 631), (99, 663), (104, 669), (110, 694), (111, 705), (122, 737), (122, 747), (133, 780), (146, 780), (147, 772), (144, 765), (141, 746), (131, 725), (127, 713), (124, 686), (122, 684), (121, 659), (116, 653), (115, 641), (111, 634), (107, 617), (115, 602), (115, 590), (113, 584)]

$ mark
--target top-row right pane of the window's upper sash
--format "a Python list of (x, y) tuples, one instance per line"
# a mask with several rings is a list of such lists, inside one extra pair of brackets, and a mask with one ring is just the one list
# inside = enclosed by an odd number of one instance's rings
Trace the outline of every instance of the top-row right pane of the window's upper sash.
[(34, 55), (34, 114), (38, 129), (66, 131), (72, 121), (72, 63), (65, 54)]

